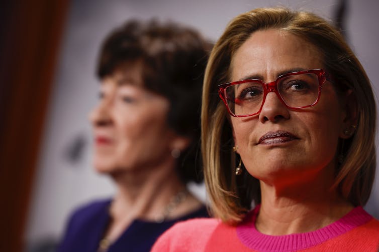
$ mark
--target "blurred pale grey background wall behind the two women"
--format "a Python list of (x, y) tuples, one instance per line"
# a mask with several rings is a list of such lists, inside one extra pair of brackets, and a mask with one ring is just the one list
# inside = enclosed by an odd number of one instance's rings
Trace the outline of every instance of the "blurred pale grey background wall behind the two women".
[[(345, 35), (379, 94), (379, 29), (375, 0), (345, 2)], [(25, 241), (29, 248), (59, 239), (74, 207), (114, 188), (91, 167), (91, 130), (87, 114), (97, 103), (99, 81), (94, 77), (102, 40), (116, 26), (132, 18), (157, 18), (190, 25), (216, 41), (236, 15), (257, 7), (286, 6), (336, 20), (339, 0), (71, 0), (48, 101), (37, 172), (31, 192)], [(198, 188), (200, 197), (205, 193)], [(368, 212), (379, 218), (379, 179)]]

